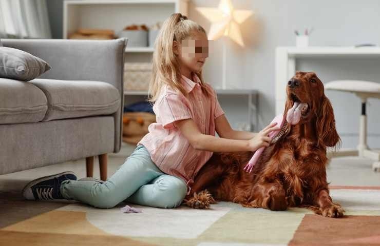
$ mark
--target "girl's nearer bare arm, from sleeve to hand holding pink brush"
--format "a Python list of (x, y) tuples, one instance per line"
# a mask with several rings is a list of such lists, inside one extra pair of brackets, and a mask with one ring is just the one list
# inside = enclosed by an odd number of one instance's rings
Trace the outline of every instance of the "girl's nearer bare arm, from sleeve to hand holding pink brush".
[(212, 152), (256, 151), (262, 146), (268, 147), (271, 141), (268, 134), (271, 131), (278, 130), (274, 127), (275, 124), (272, 124), (250, 140), (235, 140), (202, 134), (193, 119), (177, 120), (174, 124), (193, 148)]

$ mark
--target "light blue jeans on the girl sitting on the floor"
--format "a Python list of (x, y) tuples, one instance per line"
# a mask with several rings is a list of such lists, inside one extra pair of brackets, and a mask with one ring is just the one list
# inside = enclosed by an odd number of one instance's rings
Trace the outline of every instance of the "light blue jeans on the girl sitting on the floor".
[[(174, 163), (173, 163), (174, 164)], [(157, 208), (178, 207), (186, 196), (186, 183), (163, 173), (139, 145), (116, 172), (104, 183), (65, 180), (61, 194), (96, 208), (108, 209), (127, 202)]]

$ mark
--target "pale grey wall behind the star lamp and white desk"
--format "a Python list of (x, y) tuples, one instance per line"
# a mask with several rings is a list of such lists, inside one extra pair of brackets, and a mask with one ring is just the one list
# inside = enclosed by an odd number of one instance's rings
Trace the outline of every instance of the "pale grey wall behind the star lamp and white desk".
[[(275, 116), (275, 48), (294, 46), (294, 30), (314, 27), (310, 36), (311, 46), (353, 46), (359, 43), (380, 44), (380, 2), (377, 0), (233, 0), (236, 9), (249, 9), (254, 17), (243, 26), (246, 48), (240, 49), (232, 42), (227, 61), (227, 83), (260, 92), (260, 128)], [(195, 7), (217, 7), (219, 0), (193, 0), (189, 17), (208, 30), (210, 23), (195, 10)], [(205, 80), (219, 85), (221, 80), (221, 43), (215, 42), (212, 57), (205, 65)], [(380, 82), (380, 59), (298, 59), (297, 70), (315, 71), (324, 81), (333, 79), (366, 79)], [(284, 81), (284, 88), (287, 81)], [(360, 101), (355, 96), (326, 92), (331, 99), (338, 132), (343, 139), (343, 147), (357, 145), (358, 117)], [(235, 98), (236, 100), (236, 98)], [(229, 119), (236, 118), (245, 111), (234, 107), (221, 98), (222, 107), (229, 112)], [(380, 100), (372, 99), (368, 105), (369, 145), (380, 148)], [(236, 124), (235, 124), (236, 126)]]

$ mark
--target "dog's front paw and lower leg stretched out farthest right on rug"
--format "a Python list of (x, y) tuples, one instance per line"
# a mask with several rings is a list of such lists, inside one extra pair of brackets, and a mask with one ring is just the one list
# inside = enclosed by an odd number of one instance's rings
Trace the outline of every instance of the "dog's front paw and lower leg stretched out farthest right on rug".
[(318, 207), (314, 207), (313, 210), (317, 214), (334, 218), (343, 217), (344, 215), (345, 210), (340, 204), (332, 202), (329, 190), (327, 189), (318, 191), (315, 203)]

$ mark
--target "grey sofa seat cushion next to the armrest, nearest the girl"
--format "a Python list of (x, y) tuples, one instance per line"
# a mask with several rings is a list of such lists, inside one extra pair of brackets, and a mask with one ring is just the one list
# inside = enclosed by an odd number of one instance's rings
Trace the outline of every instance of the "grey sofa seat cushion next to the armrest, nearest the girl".
[(107, 115), (120, 109), (119, 90), (105, 82), (36, 78), (29, 83), (40, 88), (48, 100), (43, 121)]

